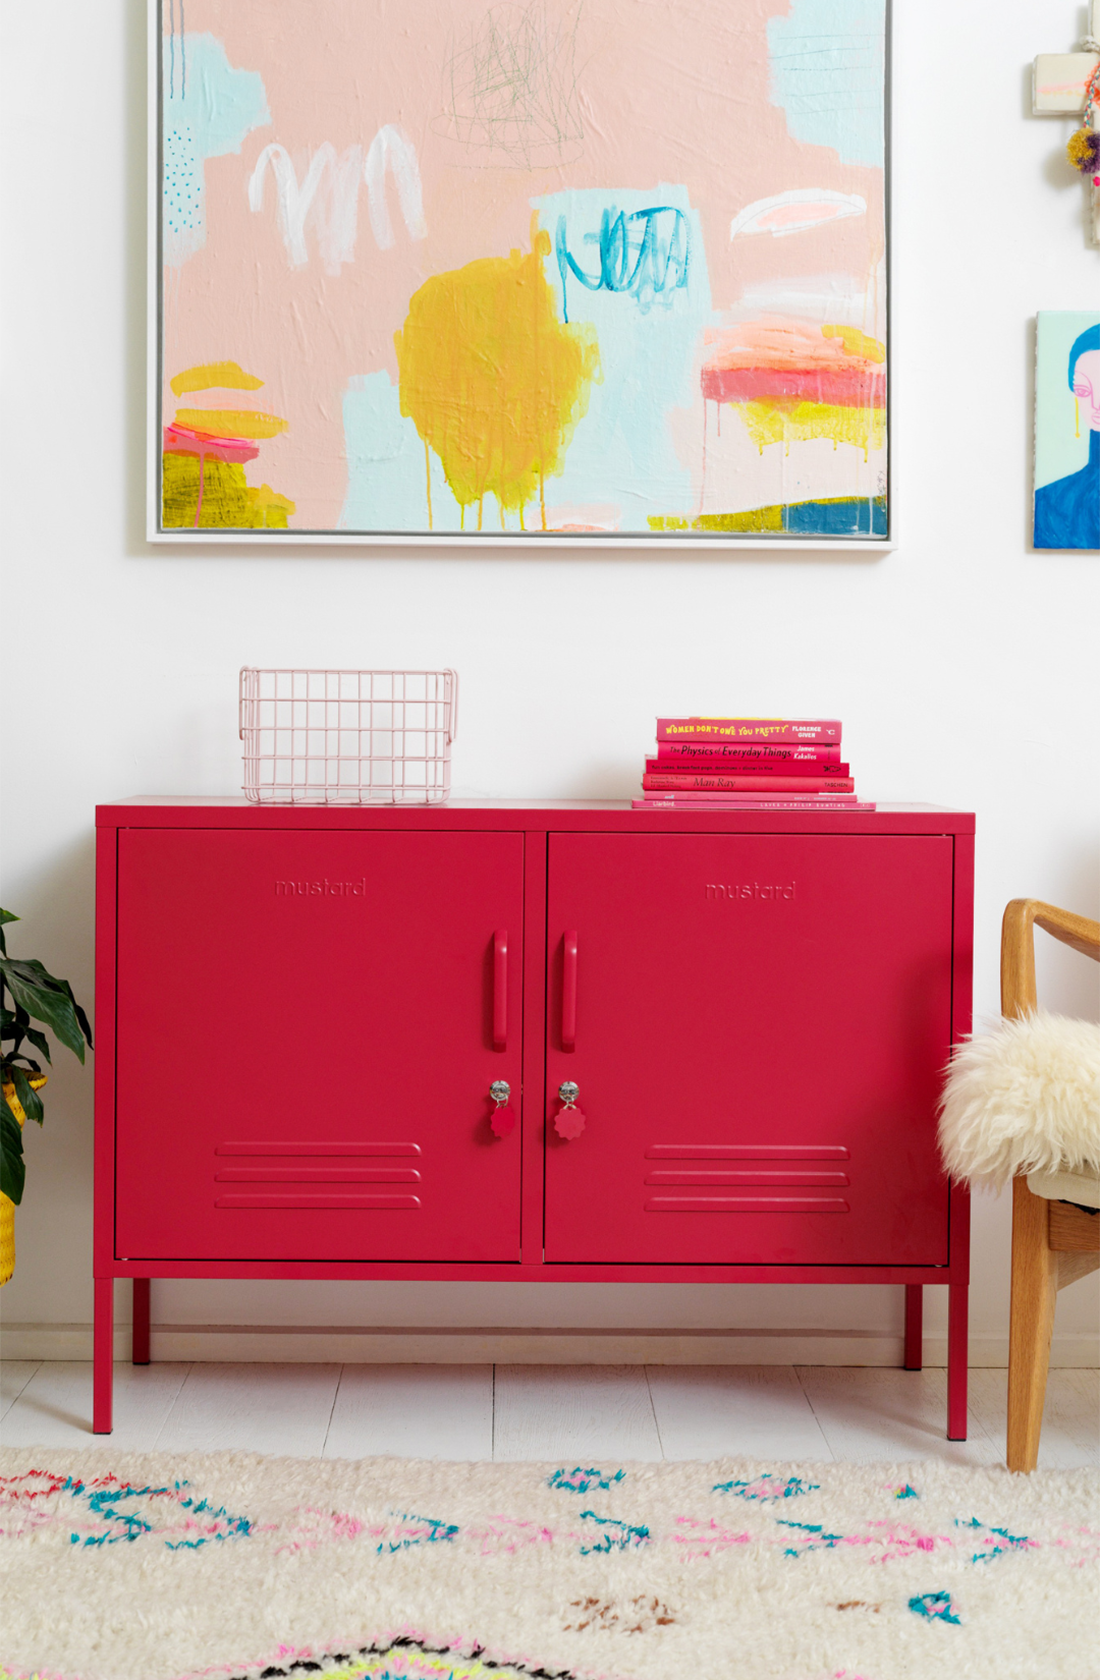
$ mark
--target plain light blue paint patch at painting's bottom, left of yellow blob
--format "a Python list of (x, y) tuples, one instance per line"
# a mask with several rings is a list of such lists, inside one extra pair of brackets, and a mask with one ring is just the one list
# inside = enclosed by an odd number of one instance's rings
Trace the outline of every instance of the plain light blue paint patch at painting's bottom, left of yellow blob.
[[(388, 373), (356, 375), (344, 391), (348, 494), (341, 531), (427, 531), (423, 438)], [(474, 519), (477, 522), (477, 519)], [(460, 531), (462, 509), (432, 455), (432, 529)]]

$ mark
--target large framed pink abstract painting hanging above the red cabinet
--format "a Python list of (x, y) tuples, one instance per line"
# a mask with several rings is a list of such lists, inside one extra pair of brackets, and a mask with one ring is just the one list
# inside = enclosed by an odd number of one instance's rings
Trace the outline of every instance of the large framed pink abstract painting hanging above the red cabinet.
[(153, 536), (888, 538), (887, 0), (151, 0)]

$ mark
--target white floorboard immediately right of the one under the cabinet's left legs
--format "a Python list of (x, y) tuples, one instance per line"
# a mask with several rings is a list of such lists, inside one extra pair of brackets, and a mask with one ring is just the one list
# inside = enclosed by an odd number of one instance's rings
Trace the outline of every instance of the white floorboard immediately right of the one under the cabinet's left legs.
[(319, 1458), (339, 1366), (193, 1364), (158, 1435), (160, 1452), (227, 1448)]

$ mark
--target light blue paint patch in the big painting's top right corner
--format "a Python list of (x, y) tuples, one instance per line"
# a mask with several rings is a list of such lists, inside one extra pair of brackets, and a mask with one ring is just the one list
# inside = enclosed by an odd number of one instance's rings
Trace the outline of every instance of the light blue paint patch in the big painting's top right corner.
[(841, 163), (885, 160), (885, 0), (793, 0), (767, 20), (771, 102), (788, 131)]

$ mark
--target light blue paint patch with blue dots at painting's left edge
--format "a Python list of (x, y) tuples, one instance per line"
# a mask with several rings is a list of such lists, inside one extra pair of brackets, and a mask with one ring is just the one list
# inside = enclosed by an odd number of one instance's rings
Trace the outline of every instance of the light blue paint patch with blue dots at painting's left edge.
[[(245, 134), (270, 123), (264, 77), (235, 71), (215, 35), (171, 35), (161, 67), (165, 141), (165, 262), (181, 267), (207, 244), (207, 158), (240, 151)], [(181, 74), (186, 64), (186, 79)], [(242, 202), (244, 210), (244, 202)]]

